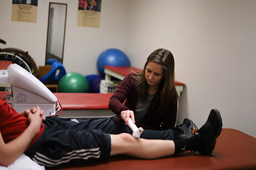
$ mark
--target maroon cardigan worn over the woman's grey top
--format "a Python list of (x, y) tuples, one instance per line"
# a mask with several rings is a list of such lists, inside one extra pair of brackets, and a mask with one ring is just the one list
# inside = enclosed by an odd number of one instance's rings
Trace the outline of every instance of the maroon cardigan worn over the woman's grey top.
[[(109, 102), (109, 109), (116, 115), (120, 115), (123, 110), (135, 110), (138, 101), (138, 92), (134, 85), (134, 74), (127, 75), (116, 92), (112, 95)], [(156, 112), (160, 101), (157, 100), (159, 91), (155, 94), (141, 122), (137, 122), (137, 127), (148, 130), (165, 130), (173, 128), (177, 118), (177, 102), (173, 102), (170, 98), (170, 104), (166, 112)], [(125, 101), (125, 103), (124, 103)], [(124, 103), (124, 104), (123, 104)], [(120, 116), (116, 118), (117, 122), (122, 122)]]

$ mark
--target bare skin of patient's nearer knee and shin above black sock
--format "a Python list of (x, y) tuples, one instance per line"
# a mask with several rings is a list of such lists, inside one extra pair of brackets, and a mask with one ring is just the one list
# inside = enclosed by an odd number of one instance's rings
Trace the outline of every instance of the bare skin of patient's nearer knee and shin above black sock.
[(110, 135), (110, 137), (112, 148), (111, 156), (122, 154), (154, 159), (173, 155), (175, 152), (173, 140), (135, 139), (132, 135), (127, 133)]

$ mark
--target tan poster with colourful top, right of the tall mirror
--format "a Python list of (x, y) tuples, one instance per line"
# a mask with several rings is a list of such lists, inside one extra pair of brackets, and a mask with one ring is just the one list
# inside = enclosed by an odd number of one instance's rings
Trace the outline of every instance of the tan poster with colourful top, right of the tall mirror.
[(78, 0), (77, 26), (99, 28), (101, 0)]

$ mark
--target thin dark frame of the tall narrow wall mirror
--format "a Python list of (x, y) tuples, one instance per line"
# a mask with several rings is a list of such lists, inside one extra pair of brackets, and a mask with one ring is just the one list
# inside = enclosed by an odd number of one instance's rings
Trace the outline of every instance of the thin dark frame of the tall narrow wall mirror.
[(62, 44), (62, 56), (61, 57), (61, 63), (63, 63), (63, 53), (64, 53), (64, 45), (65, 45), (65, 33), (66, 33), (66, 22), (67, 22), (67, 8), (68, 4), (62, 4), (62, 3), (49, 3), (49, 11), (48, 11), (48, 26), (47, 26), (47, 40), (46, 40), (46, 56), (45, 56), (45, 65), (48, 60), (47, 58), (47, 52), (48, 52), (48, 41), (49, 41), (49, 21), (50, 21), (50, 11), (51, 11), (51, 4), (59, 4), (59, 5), (66, 5), (66, 10), (65, 10), (65, 24), (64, 24), (64, 36), (63, 36), (63, 44)]

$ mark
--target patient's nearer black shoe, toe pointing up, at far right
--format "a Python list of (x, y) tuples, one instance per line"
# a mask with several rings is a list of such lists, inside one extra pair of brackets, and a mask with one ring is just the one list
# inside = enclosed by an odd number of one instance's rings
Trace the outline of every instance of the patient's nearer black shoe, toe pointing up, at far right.
[(203, 145), (197, 151), (202, 155), (210, 155), (214, 151), (216, 139), (221, 134), (222, 118), (217, 109), (212, 109), (206, 123), (194, 133), (195, 137), (202, 141)]

